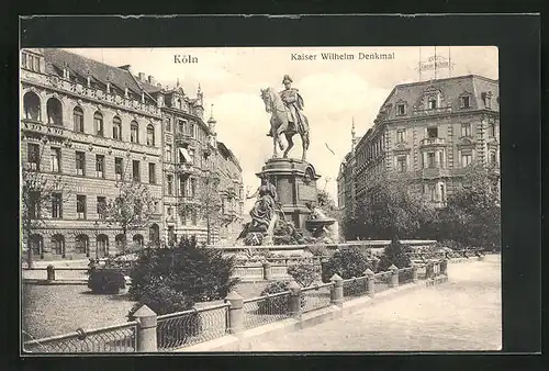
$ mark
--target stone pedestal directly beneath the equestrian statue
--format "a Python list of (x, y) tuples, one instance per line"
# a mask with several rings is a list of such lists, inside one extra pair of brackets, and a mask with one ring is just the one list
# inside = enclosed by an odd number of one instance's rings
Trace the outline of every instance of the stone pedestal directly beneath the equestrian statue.
[(305, 221), (311, 214), (306, 203), (317, 203), (318, 199), (316, 180), (321, 176), (314, 167), (294, 158), (271, 158), (257, 176), (267, 177), (274, 184), (287, 221), (293, 222), (299, 232), (305, 232)]

